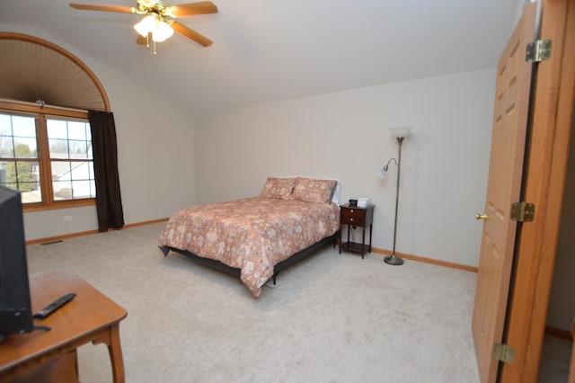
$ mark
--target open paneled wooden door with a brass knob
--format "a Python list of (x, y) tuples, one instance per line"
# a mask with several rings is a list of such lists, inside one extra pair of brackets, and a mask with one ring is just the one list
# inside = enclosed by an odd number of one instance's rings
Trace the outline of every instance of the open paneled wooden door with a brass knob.
[(473, 306), (473, 342), (482, 382), (494, 382), (501, 343), (517, 222), (510, 210), (519, 201), (533, 65), (526, 62), (527, 42), (534, 40), (536, 4), (527, 4), (497, 67), (491, 156), (485, 200), (477, 287)]

